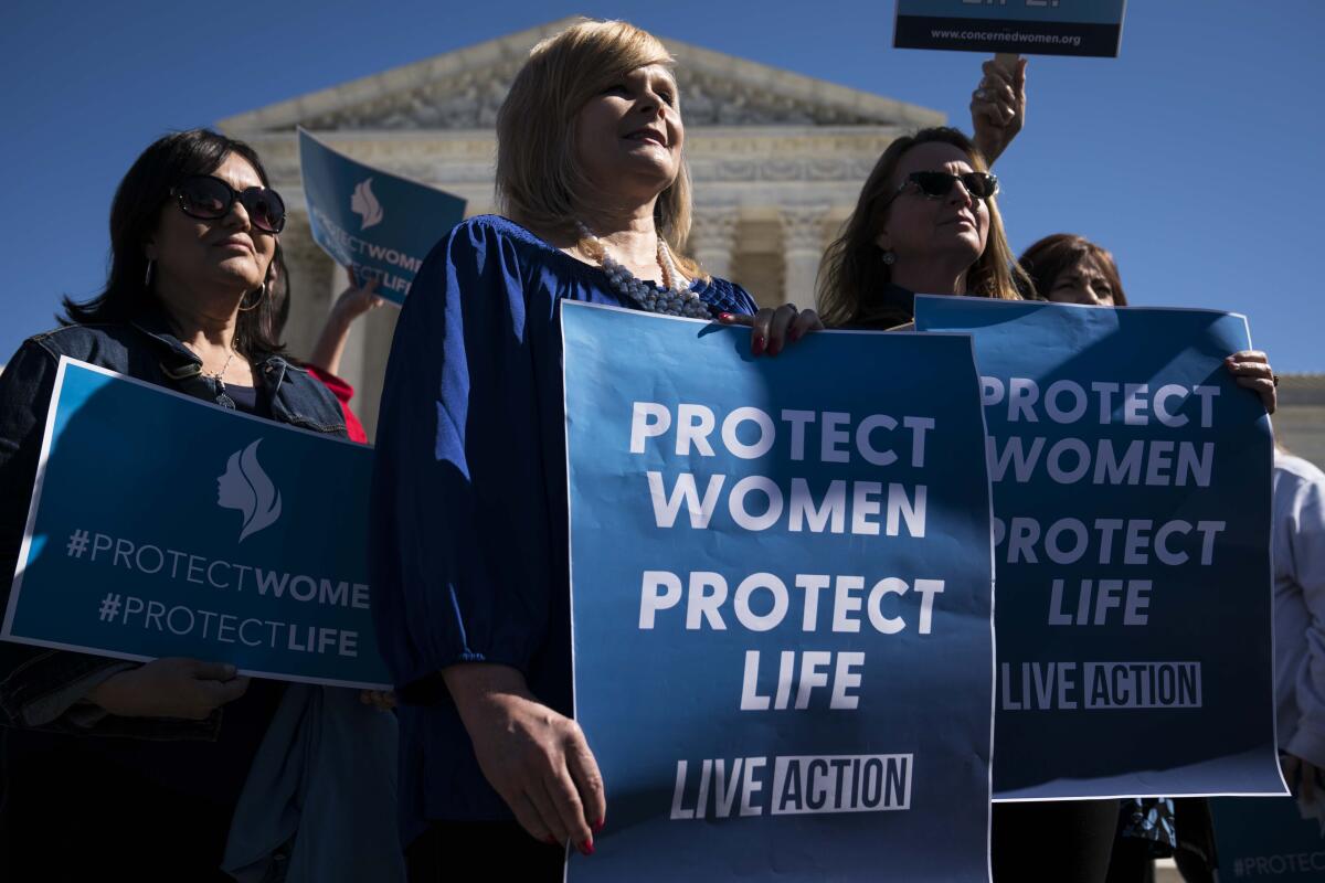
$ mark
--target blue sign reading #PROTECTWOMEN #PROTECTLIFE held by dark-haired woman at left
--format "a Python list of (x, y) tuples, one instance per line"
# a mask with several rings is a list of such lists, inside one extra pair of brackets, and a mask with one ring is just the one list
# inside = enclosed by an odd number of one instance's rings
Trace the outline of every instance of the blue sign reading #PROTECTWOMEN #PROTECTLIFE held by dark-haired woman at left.
[(0, 637), (383, 687), (372, 450), (62, 357)]

